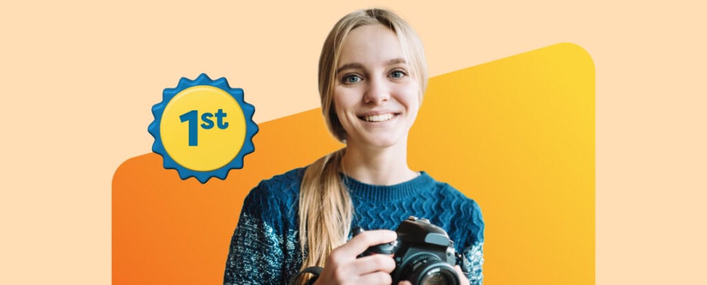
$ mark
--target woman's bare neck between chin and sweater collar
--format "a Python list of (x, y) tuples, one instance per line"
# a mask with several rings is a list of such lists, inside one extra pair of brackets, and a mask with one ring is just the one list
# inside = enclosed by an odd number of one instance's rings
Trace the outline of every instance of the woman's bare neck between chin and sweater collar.
[(407, 165), (407, 144), (380, 149), (348, 144), (341, 164), (346, 175), (372, 185), (396, 185), (419, 175)]

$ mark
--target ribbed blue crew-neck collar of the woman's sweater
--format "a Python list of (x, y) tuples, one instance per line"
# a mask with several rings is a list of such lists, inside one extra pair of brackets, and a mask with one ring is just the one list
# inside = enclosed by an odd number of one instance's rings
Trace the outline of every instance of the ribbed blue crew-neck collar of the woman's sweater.
[(365, 199), (371, 202), (386, 202), (397, 199), (404, 199), (421, 194), (431, 189), (434, 180), (426, 172), (421, 171), (416, 178), (396, 185), (371, 185), (358, 181), (354, 178), (341, 174), (341, 180), (349, 188), (352, 196)]

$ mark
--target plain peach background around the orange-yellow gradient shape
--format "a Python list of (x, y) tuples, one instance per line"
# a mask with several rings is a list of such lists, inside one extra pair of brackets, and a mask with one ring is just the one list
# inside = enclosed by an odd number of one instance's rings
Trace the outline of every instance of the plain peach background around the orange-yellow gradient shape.
[[(419, 31), (432, 76), (557, 42), (588, 50), (597, 284), (703, 284), (706, 7), (526, 2), (378, 5)], [(162, 89), (207, 72), (244, 88), (257, 122), (309, 110), (325, 33), (373, 5), (0, 4), (0, 283), (110, 283), (112, 173), (150, 150)]]

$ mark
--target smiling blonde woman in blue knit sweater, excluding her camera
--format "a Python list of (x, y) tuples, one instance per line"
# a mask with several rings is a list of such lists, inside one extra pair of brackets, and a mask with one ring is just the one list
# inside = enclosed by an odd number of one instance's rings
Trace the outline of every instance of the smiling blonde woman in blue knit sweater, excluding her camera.
[[(461, 283), (481, 284), (479, 206), (407, 165), (426, 83), (421, 42), (399, 16), (369, 9), (341, 18), (322, 48), (319, 90), (329, 131), (346, 147), (248, 194), (224, 284), (286, 284), (313, 266), (323, 267), (315, 284), (391, 284), (390, 255), (357, 256), (395, 240), (391, 230), (408, 216), (447, 231), (469, 262), (469, 274), (457, 267)], [(351, 238), (355, 226), (370, 231)]]

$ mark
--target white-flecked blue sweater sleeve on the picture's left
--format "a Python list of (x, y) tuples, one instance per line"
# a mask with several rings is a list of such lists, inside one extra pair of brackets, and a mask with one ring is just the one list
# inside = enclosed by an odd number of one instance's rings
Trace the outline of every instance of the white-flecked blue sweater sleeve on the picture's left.
[(243, 202), (230, 240), (223, 284), (282, 284), (283, 239), (279, 207), (261, 182)]

